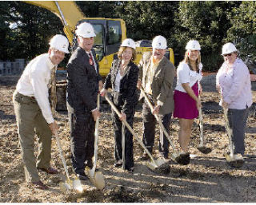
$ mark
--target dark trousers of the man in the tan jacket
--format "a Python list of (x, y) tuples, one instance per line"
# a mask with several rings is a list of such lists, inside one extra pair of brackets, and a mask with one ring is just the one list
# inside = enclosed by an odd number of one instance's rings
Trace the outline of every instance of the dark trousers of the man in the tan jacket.
[[(168, 113), (164, 116), (160, 116), (162, 119), (162, 124), (166, 128), (166, 132), (168, 135), (170, 133), (170, 119), (171, 114)], [(146, 101), (142, 105), (142, 115), (143, 115), (143, 143), (145, 144), (146, 148), (149, 150), (150, 153), (153, 152), (154, 146), (154, 136), (155, 136), (155, 124), (157, 120), (155, 119), (154, 115), (152, 114), (149, 105)], [(166, 136), (163, 132), (160, 132), (159, 142), (158, 142), (158, 150), (162, 155), (168, 156), (169, 153), (169, 146), (170, 143), (166, 139)]]

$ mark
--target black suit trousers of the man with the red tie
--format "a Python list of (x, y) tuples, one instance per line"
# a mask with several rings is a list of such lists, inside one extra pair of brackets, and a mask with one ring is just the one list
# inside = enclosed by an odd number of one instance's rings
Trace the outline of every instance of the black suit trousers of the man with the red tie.
[(94, 156), (95, 121), (91, 112), (74, 112), (67, 104), (70, 120), (71, 159), (75, 173), (83, 173), (86, 160)]

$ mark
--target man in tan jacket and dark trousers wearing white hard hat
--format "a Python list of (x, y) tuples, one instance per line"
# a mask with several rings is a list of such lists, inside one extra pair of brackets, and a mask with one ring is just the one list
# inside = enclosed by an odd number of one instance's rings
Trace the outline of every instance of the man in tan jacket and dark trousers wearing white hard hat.
[[(145, 53), (138, 64), (139, 77), (138, 89), (145, 90), (147, 97), (153, 103), (154, 111), (151, 112), (149, 105), (144, 101), (143, 115), (143, 143), (152, 153), (154, 146), (154, 134), (156, 119), (154, 114), (159, 114), (166, 131), (170, 132), (170, 118), (174, 110), (173, 81), (175, 75), (174, 65), (164, 56), (166, 53), (166, 38), (154, 37), (152, 41), (153, 52)], [(142, 96), (140, 97), (140, 99)], [(159, 138), (159, 152), (168, 159), (169, 141), (161, 132)], [(148, 160), (144, 152), (142, 160)]]

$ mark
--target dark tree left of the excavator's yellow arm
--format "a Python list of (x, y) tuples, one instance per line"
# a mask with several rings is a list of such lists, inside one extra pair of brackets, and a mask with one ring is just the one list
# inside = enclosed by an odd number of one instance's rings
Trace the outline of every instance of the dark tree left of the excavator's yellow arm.
[(2, 59), (32, 59), (39, 53), (47, 52), (50, 37), (63, 34), (58, 17), (38, 6), (24, 2), (1, 2), (1, 11), (9, 28), (3, 27), (10, 42), (7, 56), (2, 56)]

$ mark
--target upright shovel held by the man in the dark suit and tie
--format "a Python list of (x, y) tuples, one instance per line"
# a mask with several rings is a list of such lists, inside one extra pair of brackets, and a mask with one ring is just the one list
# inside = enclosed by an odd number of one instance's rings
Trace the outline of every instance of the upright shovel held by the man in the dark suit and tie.
[[(100, 95), (98, 94), (97, 97), (97, 108), (99, 109), (99, 97)], [(98, 121), (99, 117), (96, 120), (95, 123), (95, 139), (94, 139), (94, 167), (90, 169), (89, 172), (89, 177), (90, 177), (90, 182), (94, 184), (94, 187), (97, 187), (99, 190), (102, 190), (105, 187), (105, 179), (104, 176), (102, 175), (101, 171), (96, 171), (96, 165), (97, 165), (97, 160), (98, 160)]]

